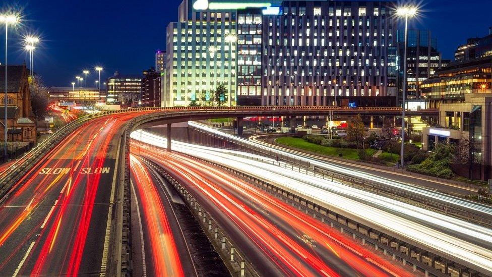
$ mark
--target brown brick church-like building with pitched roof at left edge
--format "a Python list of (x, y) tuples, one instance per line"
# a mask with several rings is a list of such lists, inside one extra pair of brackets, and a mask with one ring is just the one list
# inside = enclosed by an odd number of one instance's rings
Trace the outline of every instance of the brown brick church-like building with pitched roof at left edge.
[(8, 66), (9, 81), (5, 99), (5, 66), (0, 67), (0, 141), (5, 141), (5, 101), (7, 100), (8, 141), (36, 143), (36, 123), (31, 106), (28, 69), (25, 65)]

